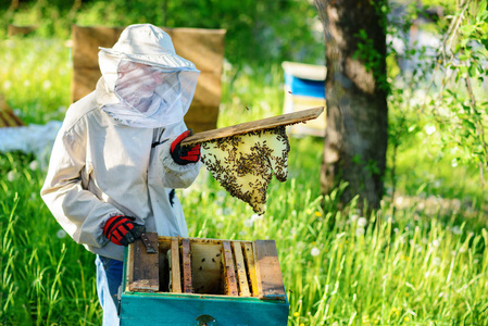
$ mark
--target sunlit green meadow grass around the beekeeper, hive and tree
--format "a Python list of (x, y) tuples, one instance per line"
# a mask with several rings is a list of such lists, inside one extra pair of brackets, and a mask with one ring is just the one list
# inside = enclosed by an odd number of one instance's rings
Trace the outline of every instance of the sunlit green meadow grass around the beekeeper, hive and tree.
[[(62, 120), (71, 80), (63, 42), (2, 41), (0, 53), (0, 91), (22, 117)], [(279, 114), (280, 74), (279, 65), (227, 66), (220, 126)], [(340, 189), (321, 197), (322, 140), (290, 141), (289, 179), (272, 181), (262, 217), (204, 170), (178, 190), (190, 236), (275, 239), (289, 325), (487, 325), (488, 234), (483, 211), (467, 203), (478, 197), (476, 171), (452, 168), (449, 158), (426, 155), (425, 143), (405, 141), (398, 158), (403, 204), (397, 200), (393, 215), (385, 197), (379, 212), (361, 216), (354, 202), (337, 209)], [(0, 155), (0, 325), (99, 325), (95, 256), (65, 236), (41, 201), (45, 173), (32, 155)], [(461, 204), (442, 209), (442, 198)]]

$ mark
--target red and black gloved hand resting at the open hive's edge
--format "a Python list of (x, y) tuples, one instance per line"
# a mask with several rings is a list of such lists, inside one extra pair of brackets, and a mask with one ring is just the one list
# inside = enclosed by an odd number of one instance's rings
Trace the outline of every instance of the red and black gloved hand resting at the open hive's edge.
[(146, 231), (143, 225), (134, 223), (134, 221), (136, 221), (135, 217), (124, 215), (110, 217), (103, 227), (103, 234), (115, 244), (128, 246)]

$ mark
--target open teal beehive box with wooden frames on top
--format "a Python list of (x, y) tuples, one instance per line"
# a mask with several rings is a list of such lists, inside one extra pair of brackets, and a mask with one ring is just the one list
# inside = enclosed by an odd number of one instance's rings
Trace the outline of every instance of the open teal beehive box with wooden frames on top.
[(286, 325), (274, 240), (159, 237), (126, 250), (121, 325)]

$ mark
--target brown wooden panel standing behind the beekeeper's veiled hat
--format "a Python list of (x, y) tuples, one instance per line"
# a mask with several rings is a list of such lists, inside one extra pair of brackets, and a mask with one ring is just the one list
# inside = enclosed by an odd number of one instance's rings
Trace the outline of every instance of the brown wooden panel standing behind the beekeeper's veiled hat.
[[(185, 123), (195, 133), (215, 129), (221, 103), (221, 75), (224, 61), (225, 29), (167, 28), (176, 53), (200, 70), (197, 89)], [(73, 80), (72, 100), (95, 90), (101, 72), (99, 47), (112, 48), (124, 27), (72, 26)]]

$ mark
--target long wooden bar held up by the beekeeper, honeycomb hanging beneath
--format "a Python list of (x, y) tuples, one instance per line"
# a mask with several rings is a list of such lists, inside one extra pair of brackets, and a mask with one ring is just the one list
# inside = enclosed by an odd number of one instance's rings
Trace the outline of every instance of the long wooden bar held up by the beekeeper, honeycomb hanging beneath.
[(247, 122), (229, 127), (207, 130), (193, 134), (182, 141), (182, 145), (189, 146), (197, 142), (225, 138), (229, 136), (242, 135), (250, 131), (275, 128), (279, 126), (292, 125), (308, 120), (316, 118), (324, 111), (324, 106), (313, 108), (292, 113), (281, 114), (267, 118)]

